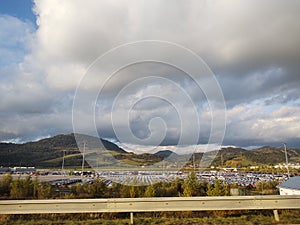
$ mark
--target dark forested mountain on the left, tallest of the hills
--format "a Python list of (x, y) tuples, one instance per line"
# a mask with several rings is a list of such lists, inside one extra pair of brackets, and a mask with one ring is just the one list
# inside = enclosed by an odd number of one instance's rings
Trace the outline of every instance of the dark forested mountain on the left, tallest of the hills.
[[(24, 144), (0, 143), (0, 166), (59, 167), (63, 151), (66, 155), (66, 166), (79, 166), (82, 163), (82, 155), (75, 136), (77, 140), (89, 143), (89, 147), (95, 147), (99, 142), (98, 138), (88, 135), (66, 134)], [(114, 153), (127, 153), (112, 142), (103, 139), (101, 142), (106, 149)]]

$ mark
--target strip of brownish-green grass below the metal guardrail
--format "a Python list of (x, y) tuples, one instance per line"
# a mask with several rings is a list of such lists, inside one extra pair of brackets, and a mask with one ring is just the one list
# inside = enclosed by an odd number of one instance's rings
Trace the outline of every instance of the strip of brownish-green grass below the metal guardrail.
[[(234, 212), (180, 212), (180, 213), (139, 213), (134, 224), (160, 225), (258, 225), (258, 224), (300, 224), (300, 210), (281, 210), (280, 222), (276, 223), (272, 211)], [(129, 224), (129, 214), (52, 214), (52, 215), (2, 215), (0, 224), (44, 225), (44, 224)]]

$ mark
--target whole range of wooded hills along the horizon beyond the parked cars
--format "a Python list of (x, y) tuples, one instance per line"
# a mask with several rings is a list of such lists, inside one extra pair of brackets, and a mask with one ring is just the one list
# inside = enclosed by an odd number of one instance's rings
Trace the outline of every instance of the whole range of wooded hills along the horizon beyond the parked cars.
[[(99, 142), (98, 138), (87, 135), (76, 134), (76, 138), (86, 141), (89, 148), (96, 148), (96, 143)], [(155, 154), (134, 154), (126, 152), (107, 140), (101, 139), (101, 141), (105, 148), (109, 150), (107, 154), (131, 165), (152, 165), (163, 159), (171, 164), (188, 161), (187, 155), (177, 155), (170, 150), (160, 150)], [(0, 143), (0, 166), (60, 167), (63, 151), (65, 152), (65, 166), (78, 167), (81, 165), (82, 155), (78, 150), (75, 136), (74, 134), (66, 134), (24, 144)], [(215, 154), (217, 154), (216, 157), (214, 157)], [(202, 153), (195, 154), (196, 164), (199, 163), (202, 156)], [(213, 159), (212, 165), (214, 166), (274, 165), (285, 162), (283, 148), (268, 146), (254, 150), (222, 148), (218, 152), (208, 153), (207, 156), (207, 159)], [(289, 162), (300, 163), (300, 149), (288, 149), (288, 157)], [(96, 157), (95, 160), (97, 160)], [(192, 159), (189, 163), (192, 163)], [(88, 166), (88, 163), (86, 165)]]

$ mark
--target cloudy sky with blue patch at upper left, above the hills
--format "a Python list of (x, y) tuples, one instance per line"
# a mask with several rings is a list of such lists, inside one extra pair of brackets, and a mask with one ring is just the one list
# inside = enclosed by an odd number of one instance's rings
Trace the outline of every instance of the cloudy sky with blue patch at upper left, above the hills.
[(298, 0), (1, 0), (0, 141), (300, 148), (299, 21)]

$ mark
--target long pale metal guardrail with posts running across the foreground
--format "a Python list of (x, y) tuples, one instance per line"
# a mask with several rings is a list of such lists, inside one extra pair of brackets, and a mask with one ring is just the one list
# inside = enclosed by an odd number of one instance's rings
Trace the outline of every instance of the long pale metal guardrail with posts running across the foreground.
[(0, 214), (300, 209), (300, 195), (3, 200)]

